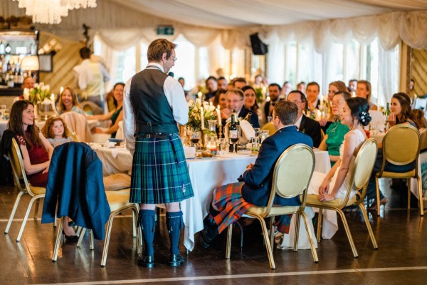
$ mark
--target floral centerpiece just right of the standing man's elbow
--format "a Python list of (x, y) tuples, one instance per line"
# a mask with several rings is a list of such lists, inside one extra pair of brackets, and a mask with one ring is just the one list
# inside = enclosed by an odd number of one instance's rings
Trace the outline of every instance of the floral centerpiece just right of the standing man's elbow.
[(195, 101), (189, 100), (189, 122), (186, 126), (193, 130), (205, 130), (208, 120), (218, 120), (218, 109), (207, 102), (201, 102), (198, 98)]

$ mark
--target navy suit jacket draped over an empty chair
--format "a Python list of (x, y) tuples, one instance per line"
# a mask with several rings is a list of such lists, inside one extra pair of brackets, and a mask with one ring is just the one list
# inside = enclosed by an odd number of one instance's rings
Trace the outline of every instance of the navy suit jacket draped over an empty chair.
[(83, 142), (67, 142), (53, 150), (41, 222), (68, 216), (80, 227), (93, 229), (95, 239), (104, 239), (110, 206), (102, 181), (102, 162)]

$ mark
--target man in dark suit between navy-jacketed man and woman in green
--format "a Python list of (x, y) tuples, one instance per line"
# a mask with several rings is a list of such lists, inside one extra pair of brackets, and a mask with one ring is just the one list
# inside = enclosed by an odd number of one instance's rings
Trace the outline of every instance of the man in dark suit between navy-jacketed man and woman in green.
[(307, 105), (307, 98), (305, 98), (304, 93), (298, 90), (290, 91), (288, 101), (295, 103), (298, 106), (298, 116), (295, 122), (297, 129), (302, 133), (310, 135), (313, 140), (313, 145), (315, 147), (319, 147), (320, 141), (322, 140), (320, 124), (302, 113)]

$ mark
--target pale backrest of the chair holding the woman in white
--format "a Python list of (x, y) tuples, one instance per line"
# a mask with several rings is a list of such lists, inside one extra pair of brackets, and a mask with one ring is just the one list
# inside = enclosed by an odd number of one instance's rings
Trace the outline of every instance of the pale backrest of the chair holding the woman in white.
[[(354, 168), (352, 176), (350, 177), (349, 189), (344, 198), (342, 207), (344, 207), (349, 199), (352, 189), (359, 191), (359, 202), (363, 202), (367, 192), (367, 185), (369, 177), (371, 177), (372, 170), (376, 160), (376, 151), (378, 150), (376, 140), (369, 138), (366, 140), (357, 153), (356, 160), (354, 160)], [(362, 190), (362, 192), (360, 191)]]

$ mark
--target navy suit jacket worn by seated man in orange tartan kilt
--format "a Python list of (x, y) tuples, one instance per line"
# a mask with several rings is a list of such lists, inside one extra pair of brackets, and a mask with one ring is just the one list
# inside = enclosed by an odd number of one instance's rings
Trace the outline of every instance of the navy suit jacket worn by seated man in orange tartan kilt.
[[(246, 170), (242, 175), (242, 180), (245, 182), (242, 187), (242, 197), (246, 202), (257, 206), (267, 205), (275, 163), (284, 150), (297, 143), (313, 147), (312, 139), (308, 135), (298, 132), (295, 126), (282, 128), (263, 141), (252, 169)], [(298, 196), (291, 199), (276, 196), (274, 203), (299, 205), (301, 201)]]

